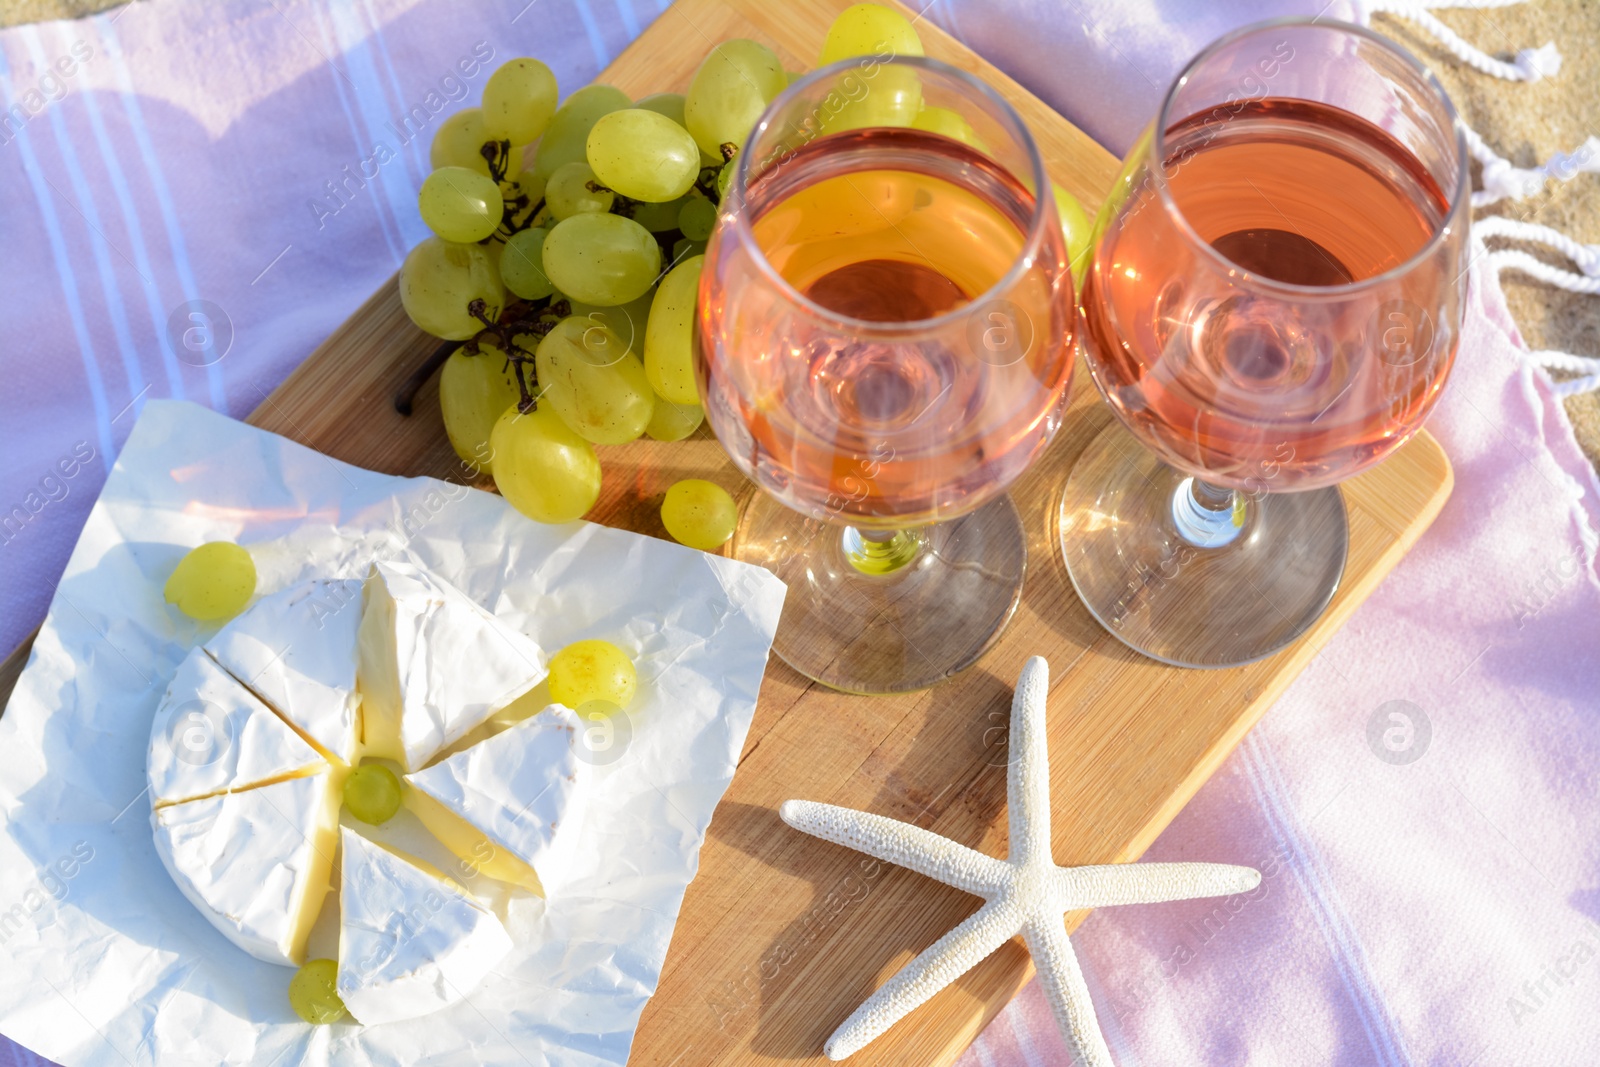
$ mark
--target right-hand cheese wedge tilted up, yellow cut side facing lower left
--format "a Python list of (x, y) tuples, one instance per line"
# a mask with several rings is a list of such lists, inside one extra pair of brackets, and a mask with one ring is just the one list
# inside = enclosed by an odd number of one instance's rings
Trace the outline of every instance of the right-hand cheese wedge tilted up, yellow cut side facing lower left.
[[(406, 805), (466, 864), (542, 896), (560, 893), (579, 849), (590, 765), (582, 720), (560, 704), (406, 774)], [(531, 880), (530, 880), (531, 875)]]

